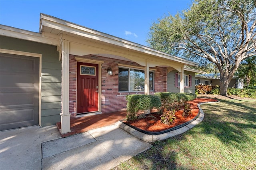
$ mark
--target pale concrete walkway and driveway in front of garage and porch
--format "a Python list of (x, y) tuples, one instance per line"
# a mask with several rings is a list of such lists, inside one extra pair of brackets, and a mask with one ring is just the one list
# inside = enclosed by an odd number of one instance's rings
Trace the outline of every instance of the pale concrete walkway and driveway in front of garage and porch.
[(115, 125), (60, 138), (56, 126), (0, 132), (0, 169), (111, 169), (152, 145)]

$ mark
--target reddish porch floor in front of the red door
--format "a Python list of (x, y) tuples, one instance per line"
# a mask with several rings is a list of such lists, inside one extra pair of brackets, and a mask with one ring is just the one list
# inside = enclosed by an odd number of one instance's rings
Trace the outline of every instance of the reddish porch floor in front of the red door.
[[(87, 132), (95, 128), (114, 125), (114, 123), (125, 119), (126, 111), (118, 111), (112, 113), (104, 113), (99, 115), (91, 115), (85, 117), (77, 117), (70, 119), (71, 132), (61, 134), (62, 137), (71, 136), (73, 134)], [(60, 130), (60, 122), (56, 123), (57, 128)]]

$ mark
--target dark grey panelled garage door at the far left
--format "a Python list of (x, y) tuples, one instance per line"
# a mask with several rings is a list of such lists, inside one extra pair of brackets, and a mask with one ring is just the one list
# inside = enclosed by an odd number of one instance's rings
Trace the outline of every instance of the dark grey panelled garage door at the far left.
[(39, 57), (0, 53), (0, 130), (38, 125)]

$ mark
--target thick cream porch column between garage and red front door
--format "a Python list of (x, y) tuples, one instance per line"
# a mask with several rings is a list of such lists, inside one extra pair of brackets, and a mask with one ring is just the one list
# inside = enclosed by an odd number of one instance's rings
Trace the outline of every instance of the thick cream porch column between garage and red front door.
[(70, 132), (69, 113), (69, 42), (62, 42), (62, 113), (60, 113), (62, 134)]

